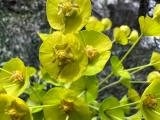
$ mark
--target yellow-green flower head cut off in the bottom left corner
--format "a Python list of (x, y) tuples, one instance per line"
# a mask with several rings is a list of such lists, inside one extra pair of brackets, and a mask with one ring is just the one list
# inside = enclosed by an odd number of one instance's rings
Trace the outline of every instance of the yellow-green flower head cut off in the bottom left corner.
[(29, 108), (19, 98), (0, 94), (0, 107), (0, 120), (32, 120)]

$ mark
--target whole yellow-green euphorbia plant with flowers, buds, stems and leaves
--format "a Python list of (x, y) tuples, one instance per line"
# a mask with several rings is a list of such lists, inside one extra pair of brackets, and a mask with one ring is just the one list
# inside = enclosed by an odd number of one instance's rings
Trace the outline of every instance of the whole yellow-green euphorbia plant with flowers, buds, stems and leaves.
[[(113, 29), (113, 37), (103, 32), (111, 28), (109, 18), (91, 16), (90, 0), (47, 0), (49, 34), (39, 33), (40, 70), (26, 67), (12, 58), (0, 68), (0, 119), (2, 120), (159, 120), (160, 53), (154, 51), (150, 63), (126, 69), (123, 61), (144, 36), (160, 35), (160, 5), (153, 17), (140, 16), (140, 33), (127, 25)], [(82, 30), (83, 28), (83, 30)], [(84, 30), (85, 29), (85, 30)], [(122, 58), (112, 56), (114, 44), (131, 47)], [(98, 80), (106, 63), (111, 73)], [(153, 66), (146, 81), (134, 74)], [(29, 78), (34, 75), (34, 82)], [(117, 81), (105, 84), (112, 77)], [(121, 83), (128, 89), (122, 98), (113, 95), (99, 100), (99, 93)], [(148, 84), (142, 96), (134, 83)], [(48, 86), (48, 84), (50, 86)], [(25, 102), (19, 97), (27, 94)], [(18, 98), (19, 97), (19, 98)], [(132, 113), (132, 109), (136, 113)]]

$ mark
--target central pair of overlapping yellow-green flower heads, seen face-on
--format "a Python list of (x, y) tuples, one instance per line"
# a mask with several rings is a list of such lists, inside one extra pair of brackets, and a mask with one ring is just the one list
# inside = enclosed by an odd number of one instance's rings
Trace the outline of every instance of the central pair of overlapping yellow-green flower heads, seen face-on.
[(96, 31), (54, 32), (43, 40), (40, 62), (57, 82), (73, 82), (103, 70), (111, 47), (109, 37)]

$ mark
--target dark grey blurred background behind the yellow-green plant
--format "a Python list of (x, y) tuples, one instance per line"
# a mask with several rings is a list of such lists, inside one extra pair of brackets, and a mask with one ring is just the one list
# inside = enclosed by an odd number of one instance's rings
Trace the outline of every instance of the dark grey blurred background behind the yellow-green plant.
[[(20, 57), (27, 65), (38, 68), (38, 51), (41, 44), (37, 32), (49, 32), (49, 25), (45, 13), (45, 0), (0, 0), (0, 64), (12, 57)], [(113, 27), (129, 25), (139, 30), (138, 17), (152, 16), (153, 7), (160, 0), (92, 0), (93, 15), (99, 19), (109, 17)], [(106, 32), (111, 35), (112, 30)], [(129, 46), (114, 45), (113, 55), (119, 57), (127, 51)], [(159, 38), (145, 37), (124, 61), (126, 68), (147, 64), (153, 50), (160, 49)], [(136, 74), (137, 79), (146, 79), (146, 75), (153, 68), (148, 68)], [(110, 71), (106, 69), (99, 75), (103, 78)], [(141, 91), (144, 87), (135, 86)], [(117, 96), (124, 94), (117, 86), (110, 92)], [(119, 91), (116, 92), (115, 91)], [(125, 90), (124, 90), (125, 91)]]

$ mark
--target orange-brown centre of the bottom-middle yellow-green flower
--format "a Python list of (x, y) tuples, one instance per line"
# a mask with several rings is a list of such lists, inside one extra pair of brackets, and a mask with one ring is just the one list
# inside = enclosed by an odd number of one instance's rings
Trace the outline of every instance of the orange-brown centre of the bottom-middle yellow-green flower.
[(73, 102), (72, 101), (66, 101), (63, 100), (61, 102), (62, 108), (65, 113), (69, 113), (73, 109)]

